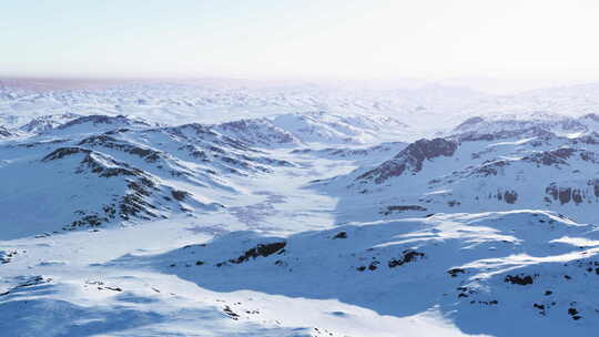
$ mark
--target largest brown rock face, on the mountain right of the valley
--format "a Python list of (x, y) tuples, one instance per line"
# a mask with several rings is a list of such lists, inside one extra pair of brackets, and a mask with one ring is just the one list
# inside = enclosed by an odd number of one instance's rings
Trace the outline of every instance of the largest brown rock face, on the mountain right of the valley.
[(376, 184), (380, 184), (393, 176), (399, 176), (408, 171), (417, 173), (423, 170), (425, 160), (433, 160), (439, 156), (453, 156), (458, 147), (455, 141), (445, 139), (419, 140), (409, 144), (399, 152), (393, 160), (383, 163), (380, 166), (359, 175), (356, 180), (374, 178)]

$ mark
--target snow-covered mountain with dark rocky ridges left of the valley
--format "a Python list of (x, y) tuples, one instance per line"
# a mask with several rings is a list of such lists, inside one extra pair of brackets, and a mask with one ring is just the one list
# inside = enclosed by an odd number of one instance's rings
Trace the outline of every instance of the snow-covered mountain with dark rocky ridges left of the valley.
[(3, 237), (219, 210), (215, 198), (245, 193), (231, 177), (294, 165), (210, 126), (124, 116), (75, 119), (0, 145), (0, 159)]

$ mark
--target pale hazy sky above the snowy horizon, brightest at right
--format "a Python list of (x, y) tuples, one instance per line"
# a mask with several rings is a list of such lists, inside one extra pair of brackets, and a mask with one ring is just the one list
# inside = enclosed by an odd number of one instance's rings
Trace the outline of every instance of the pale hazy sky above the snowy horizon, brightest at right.
[(0, 74), (599, 79), (599, 1), (18, 0)]

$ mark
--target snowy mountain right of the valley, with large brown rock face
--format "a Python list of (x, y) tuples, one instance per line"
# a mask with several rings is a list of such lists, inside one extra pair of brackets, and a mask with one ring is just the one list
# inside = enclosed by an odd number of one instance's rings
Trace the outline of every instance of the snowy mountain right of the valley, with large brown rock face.
[(370, 216), (526, 208), (596, 222), (598, 144), (595, 132), (559, 136), (542, 125), (423, 139), (315, 187), (347, 204), (367, 196)]

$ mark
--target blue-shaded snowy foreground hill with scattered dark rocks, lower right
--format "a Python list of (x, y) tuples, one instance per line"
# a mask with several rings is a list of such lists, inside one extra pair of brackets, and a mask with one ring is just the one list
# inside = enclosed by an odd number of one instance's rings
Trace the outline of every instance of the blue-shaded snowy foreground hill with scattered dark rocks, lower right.
[(437, 310), (467, 334), (565, 334), (599, 324), (591, 286), (598, 233), (546, 212), (441, 214), (290, 237), (235, 233), (111, 265), (174, 274), (219, 293), (338, 298), (396, 317)]

